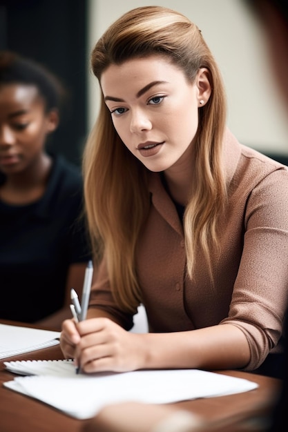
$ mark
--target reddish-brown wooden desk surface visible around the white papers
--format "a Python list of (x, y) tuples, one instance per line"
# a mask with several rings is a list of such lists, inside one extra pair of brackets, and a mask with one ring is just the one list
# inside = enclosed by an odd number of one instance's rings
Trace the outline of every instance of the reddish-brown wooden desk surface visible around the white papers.
[[(5, 322), (5, 324), (16, 323)], [(59, 346), (52, 346), (0, 360), (1, 432), (80, 432), (82, 430), (84, 420), (70, 418), (42, 402), (6, 389), (2, 385), (3, 382), (10, 381), (15, 377), (15, 374), (5, 370), (4, 361), (57, 360), (60, 358), (63, 358), (63, 355)], [(193, 411), (207, 420), (222, 420), (224, 422), (227, 420), (229, 423), (237, 422), (239, 418), (243, 418), (243, 415), (247, 418), (253, 418), (258, 415), (265, 416), (271, 411), (280, 389), (279, 380), (238, 371), (221, 371), (220, 373), (257, 382), (259, 387), (246, 393), (177, 402), (177, 404), (171, 405)], [(232, 429), (230, 430), (232, 432)], [(258, 427), (258, 429), (246, 430), (260, 431), (262, 429)]]

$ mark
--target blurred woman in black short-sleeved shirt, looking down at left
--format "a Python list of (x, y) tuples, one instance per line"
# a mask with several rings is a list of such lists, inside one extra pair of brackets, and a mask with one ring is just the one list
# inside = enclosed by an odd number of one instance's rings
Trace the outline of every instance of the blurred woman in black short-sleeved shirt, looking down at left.
[(63, 95), (40, 65), (0, 52), (0, 318), (55, 329), (89, 259), (81, 173), (46, 150)]

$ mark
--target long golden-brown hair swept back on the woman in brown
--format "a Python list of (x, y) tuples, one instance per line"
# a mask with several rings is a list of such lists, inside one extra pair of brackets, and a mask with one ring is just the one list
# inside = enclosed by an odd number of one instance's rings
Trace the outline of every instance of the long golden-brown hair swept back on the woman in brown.
[[(198, 248), (210, 266), (210, 248), (218, 247), (218, 218), (226, 202), (222, 170), (226, 97), (220, 71), (198, 27), (179, 12), (161, 6), (135, 8), (117, 19), (97, 41), (91, 67), (100, 80), (111, 64), (150, 55), (165, 56), (191, 82), (200, 68), (209, 70), (211, 97), (200, 108), (196, 137), (197, 185), (184, 216), (187, 271), (193, 277)], [(150, 205), (147, 169), (119, 139), (103, 97), (84, 150), (83, 170), (95, 253), (102, 245), (113, 294), (124, 310), (133, 311), (141, 302), (135, 247)]]

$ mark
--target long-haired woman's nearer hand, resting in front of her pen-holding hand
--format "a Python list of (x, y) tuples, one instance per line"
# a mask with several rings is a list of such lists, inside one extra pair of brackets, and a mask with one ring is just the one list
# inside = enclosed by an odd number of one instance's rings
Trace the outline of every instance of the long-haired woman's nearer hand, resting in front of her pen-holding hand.
[(81, 371), (126, 372), (144, 368), (143, 334), (130, 333), (104, 317), (76, 326), (81, 340), (75, 349), (75, 366)]

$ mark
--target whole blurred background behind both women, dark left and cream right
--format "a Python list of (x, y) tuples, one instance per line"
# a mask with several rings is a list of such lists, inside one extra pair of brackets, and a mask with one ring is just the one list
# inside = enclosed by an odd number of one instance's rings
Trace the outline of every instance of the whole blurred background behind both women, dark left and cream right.
[(222, 71), (229, 128), (242, 144), (287, 163), (284, 104), (267, 68), (262, 29), (242, 0), (0, 0), (0, 49), (44, 64), (69, 92), (52, 149), (81, 164), (99, 101), (90, 50), (121, 14), (148, 5), (178, 10), (198, 25)]

